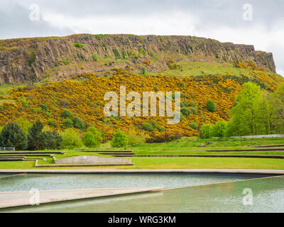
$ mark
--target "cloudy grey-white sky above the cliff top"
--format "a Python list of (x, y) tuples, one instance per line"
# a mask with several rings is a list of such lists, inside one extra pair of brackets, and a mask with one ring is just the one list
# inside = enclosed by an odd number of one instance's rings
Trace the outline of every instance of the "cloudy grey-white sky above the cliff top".
[(284, 76), (283, 10), (283, 0), (1, 0), (0, 39), (195, 35), (273, 52)]

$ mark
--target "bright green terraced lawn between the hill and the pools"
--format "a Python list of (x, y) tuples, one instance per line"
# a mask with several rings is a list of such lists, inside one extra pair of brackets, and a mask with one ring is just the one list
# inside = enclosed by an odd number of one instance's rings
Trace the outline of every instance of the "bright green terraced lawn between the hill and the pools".
[[(263, 138), (263, 139), (229, 139), (226, 141), (212, 140), (213, 143), (208, 145), (206, 149), (226, 149), (226, 148), (248, 148), (253, 145), (273, 145), (284, 144), (284, 138)], [(170, 143), (159, 144), (143, 144), (136, 148), (126, 148), (134, 150), (136, 154), (211, 154), (206, 152), (185, 153), (178, 150), (197, 150), (201, 143), (207, 140), (198, 138), (182, 138)], [(197, 147), (199, 145), (199, 147)], [(251, 148), (251, 147), (250, 147)], [(108, 144), (102, 145), (99, 150), (110, 150)], [(114, 150), (114, 149), (111, 149)], [(118, 149), (121, 150), (121, 149)], [(213, 154), (213, 153), (212, 153)], [(216, 154), (216, 153), (214, 153)], [(222, 153), (217, 153), (222, 154)], [(224, 153), (229, 154), (260, 154), (260, 155), (284, 155), (284, 152), (253, 152), (253, 153)], [(77, 155), (97, 155), (94, 153), (84, 153), (77, 151), (66, 151), (65, 155), (55, 155), (57, 158), (71, 157)], [(107, 155), (102, 155), (107, 156)], [(46, 157), (45, 157), (46, 158)], [(50, 157), (47, 161), (39, 160), (39, 164), (53, 164)], [(134, 163), (131, 167), (115, 167), (119, 169), (164, 169), (164, 168), (196, 168), (196, 169), (271, 169), (284, 170), (284, 162), (280, 159), (260, 159), (260, 158), (239, 158), (239, 157), (131, 157)], [(0, 169), (33, 169), (34, 161), (31, 162), (0, 162)], [(97, 169), (113, 169), (114, 167), (97, 167)], [(38, 168), (36, 168), (38, 169)], [(62, 169), (62, 167), (54, 167), (50, 169)], [(78, 169), (78, 167), (69, 167), (68, 169)], [(80, 167), (80, 169), (96, 169), (96, 167)]]

